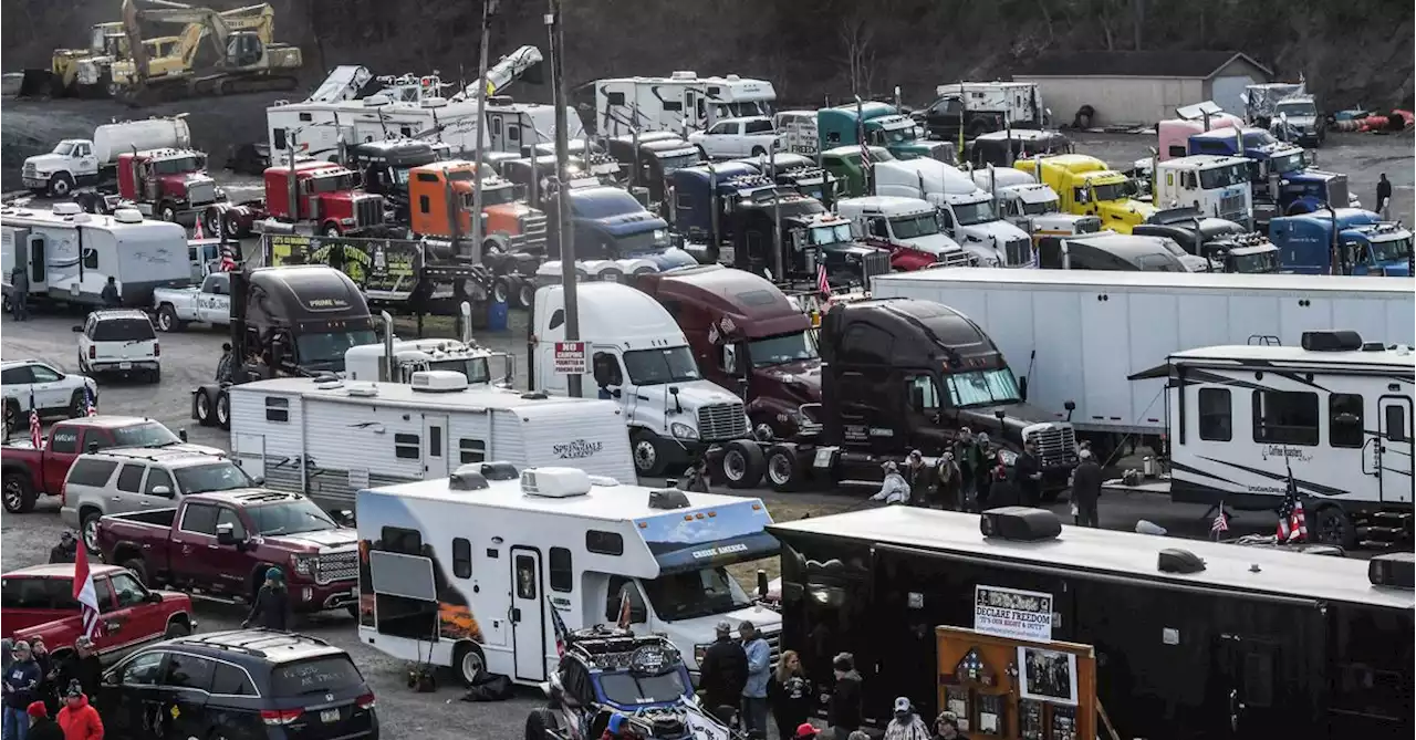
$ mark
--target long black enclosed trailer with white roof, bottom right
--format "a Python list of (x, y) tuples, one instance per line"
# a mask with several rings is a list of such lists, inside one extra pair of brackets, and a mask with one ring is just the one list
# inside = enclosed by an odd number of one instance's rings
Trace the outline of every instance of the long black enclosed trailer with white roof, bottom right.
[(1051, 597), (1049, 637), (1096, 648), (1120, 737), (1374, 740), (1416, 720), (1410, 553), (1364, 563), (1073, 526), (1004, 539), (977, 515), (906, 507), (767, 529), (782, 647), (818, 679), (854, 652), (877, 726), (895, 696), (939, 710), (935, 627), (974, 628), (978, 587)]

